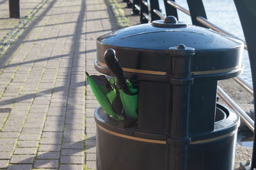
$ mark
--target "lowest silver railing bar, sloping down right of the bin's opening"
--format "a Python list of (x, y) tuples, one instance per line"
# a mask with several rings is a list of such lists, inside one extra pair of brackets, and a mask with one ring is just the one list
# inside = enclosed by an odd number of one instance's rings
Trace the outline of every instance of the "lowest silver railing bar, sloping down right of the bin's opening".
[(239, 114), (244, 124), (246, 124), (247, 127), (254, 132), (254, 122), (252, 118), (250, 118), (220, 87), (218, 87), (217, 93), (223, 99), (223, 101), (230, 106), (230, 108)]

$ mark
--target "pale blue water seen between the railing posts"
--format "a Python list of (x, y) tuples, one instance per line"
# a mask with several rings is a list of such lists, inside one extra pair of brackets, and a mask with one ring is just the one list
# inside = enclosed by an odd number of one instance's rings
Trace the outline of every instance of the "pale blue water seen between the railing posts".
[[(176, 0), (175, 1), (180, 6), (183, 6), (186, 9), (188, 4), (186, 0)], [(236, 11), (236, 6), (232, 0), (203, 0), (207, 19), (215, 25), (218, 25), (225, 31), (234, 34), (235, 36), (244, 40), (243, 29)], [(163, 0), (159, 0), (159, 6), (162, 11), (164, 10)], [(191, 24), (191, 18), (178, 10), (178, 17), (183, 22)], [(244, 50), (243, 52), (243, 64), (244, 64), (244, 73), (241, 74), (241, 77), (244, 80), (248, 81), (252, 85), (252, 74), (250, 69), (250, 60), (248, 57), (248, 52)]]

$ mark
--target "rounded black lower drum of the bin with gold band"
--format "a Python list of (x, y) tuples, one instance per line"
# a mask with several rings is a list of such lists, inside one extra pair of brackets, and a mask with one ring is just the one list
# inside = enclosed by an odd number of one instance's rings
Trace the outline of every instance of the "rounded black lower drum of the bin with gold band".
[[(215, 122), (214, 131), (191, 134), (189, 170), (232, 170), (239, 116), (217, 105), (216, 114), (227, 117)], [(169, 144), (166, 134), (122, 129), (118, 120), (108, 117), (102, 108), (95, 110), (97, 122), (98, 170), (172, 170), (169, 169)], [(173, 169), (177, 170), (177, 169)]]

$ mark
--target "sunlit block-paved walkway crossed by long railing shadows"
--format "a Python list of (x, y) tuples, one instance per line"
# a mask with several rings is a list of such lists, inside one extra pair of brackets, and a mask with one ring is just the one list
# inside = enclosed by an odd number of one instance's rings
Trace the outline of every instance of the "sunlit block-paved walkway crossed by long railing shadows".
[(0, 169), (95, 169), (98, 106), (86, 85), (104, 0), (48, 0), (0, 59)]

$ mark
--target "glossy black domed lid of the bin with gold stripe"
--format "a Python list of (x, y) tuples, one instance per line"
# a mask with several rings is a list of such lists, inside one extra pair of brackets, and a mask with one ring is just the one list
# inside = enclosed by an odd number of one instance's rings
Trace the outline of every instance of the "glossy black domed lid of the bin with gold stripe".
[(237, 76), (243, 70), (242, 41), (211, 29), (184, 24), (175, 17), (100, 36), (95, 69), (111, 74), (104, 52), (113, 48), (126, 76), (165, 76), (171, 57), (168, 49), (179, 44), (195, 48), (191, 66), (195, 78), (221, 80)]

